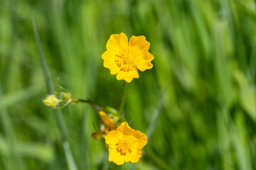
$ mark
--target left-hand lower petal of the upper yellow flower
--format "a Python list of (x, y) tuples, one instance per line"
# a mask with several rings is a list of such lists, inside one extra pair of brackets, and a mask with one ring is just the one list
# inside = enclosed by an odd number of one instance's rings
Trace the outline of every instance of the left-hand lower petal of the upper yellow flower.
[(120, 72), (120, 68), (117, 67), (117, 64), (114, 62), (114, 53), (110, 51), (105, 51), (102, 54), (102, 59), (104, 60), (104, 67), (110, 69), (110, 74), (117, 74)]

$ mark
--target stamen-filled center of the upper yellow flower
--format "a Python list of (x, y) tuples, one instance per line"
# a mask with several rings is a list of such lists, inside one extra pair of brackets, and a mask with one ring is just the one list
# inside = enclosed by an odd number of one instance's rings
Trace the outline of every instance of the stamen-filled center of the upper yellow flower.
[(139, 64), (137, 57), (132, 56), (129, 51), (122, 55), (115, 55), (114, 62), (122, 72), (137, 70), (137, 65)]

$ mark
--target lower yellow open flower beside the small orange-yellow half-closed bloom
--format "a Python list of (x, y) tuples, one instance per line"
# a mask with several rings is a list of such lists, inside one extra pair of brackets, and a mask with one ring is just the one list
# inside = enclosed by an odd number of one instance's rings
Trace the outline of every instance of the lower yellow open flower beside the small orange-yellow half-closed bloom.
[(120, 165), (124, 162), (139, 162), (147, 139), (144, 133), (123, 122), (117, 130), (112, 130), (105, 136), (105, 142), (109, 145), (109, 161)]

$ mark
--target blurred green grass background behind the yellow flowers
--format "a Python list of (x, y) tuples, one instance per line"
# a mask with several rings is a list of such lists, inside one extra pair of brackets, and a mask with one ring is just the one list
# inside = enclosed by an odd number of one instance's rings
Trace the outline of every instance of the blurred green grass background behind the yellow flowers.
[(0, 0), (0, 169), (134, 169), (108, 162), (104, 140), (91, 137), (100, 125), (93, 108), (43, 106), (31, 17), (55, 90), (60, 77), (74, 97), (114, 108), (122, 81), (103, 67), (108, 38), (151, 42), (154, 67), (129, 84), (124, 108), (132, 128), (152, 132), (139, 169), (256, 169), (255, 8), (252, 0)]

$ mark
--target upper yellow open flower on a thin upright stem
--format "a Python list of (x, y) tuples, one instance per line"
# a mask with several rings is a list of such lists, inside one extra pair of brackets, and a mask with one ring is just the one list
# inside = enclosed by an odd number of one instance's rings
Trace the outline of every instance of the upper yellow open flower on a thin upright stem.
[(110, 69), (110, 74), (117, 74), (118, 80), (129, 83), (139, 78), (137, 69), (144, 72), (153, 67), (154, 56), (149, 53), (149, 46), (143, 35), (132, 35), (128, 42), (124, 33), (112, 34), (107, 41), (107, 51), (102, 54), (104, 67)]

